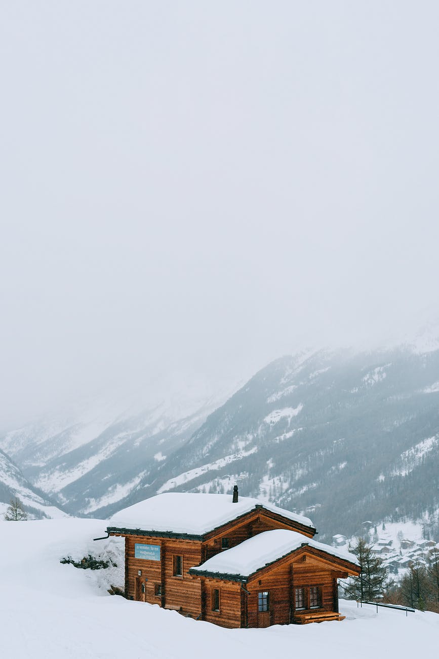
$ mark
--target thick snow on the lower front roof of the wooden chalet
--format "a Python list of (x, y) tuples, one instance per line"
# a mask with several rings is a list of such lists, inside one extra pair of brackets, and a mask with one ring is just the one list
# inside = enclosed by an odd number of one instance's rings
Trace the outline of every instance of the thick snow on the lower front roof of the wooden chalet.
[(232, 549), (220, 552), (220, 554), (209, 558), (198, 567), (192, 567), (191, 572), (249, 577), (265, 565), (272, 563), (272, 561), (294, 552), (302, 544), (307, 544), (326, 552), (326, 554), (359, 565), (357, 557), (349, 552), (335, 549), (328, 544), (323, 544), (323, 542), (310, 540), (303, 534), (297, 533), (297, 531), (276, 529), (259, 533), (257, 536), (249, 538), (249, 540), (244, 540), (236, 547), (232, 547)]

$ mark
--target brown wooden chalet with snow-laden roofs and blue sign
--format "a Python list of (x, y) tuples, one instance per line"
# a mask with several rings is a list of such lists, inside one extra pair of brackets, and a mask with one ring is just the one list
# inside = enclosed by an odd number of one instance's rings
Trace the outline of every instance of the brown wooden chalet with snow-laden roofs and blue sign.
[(337, 579), (355, 556), (315, 542), (311, 520), (241, 497), (160, 494), (116, 513), (125, 591), (223, 627), (340, 619)]

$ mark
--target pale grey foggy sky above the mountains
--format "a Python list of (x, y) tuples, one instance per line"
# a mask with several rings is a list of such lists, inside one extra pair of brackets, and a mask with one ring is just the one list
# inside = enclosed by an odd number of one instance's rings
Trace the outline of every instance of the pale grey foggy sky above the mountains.
[(435, 310), (438, 20), (3, 1), (0, 426)]

